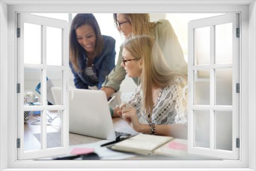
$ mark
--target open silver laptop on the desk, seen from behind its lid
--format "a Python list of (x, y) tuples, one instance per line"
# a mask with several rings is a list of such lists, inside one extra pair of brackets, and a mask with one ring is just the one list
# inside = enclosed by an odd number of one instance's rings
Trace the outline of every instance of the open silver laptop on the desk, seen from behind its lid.
[[(52, 93), (56, 105), (60, 105), (61, 88), (53, 87)], [(74, 98), (71, 100), (71, 90), (69, 93), (69, 132), (115, 140), (116, 133), (106, 94), (99, 90), (74, 89)]]

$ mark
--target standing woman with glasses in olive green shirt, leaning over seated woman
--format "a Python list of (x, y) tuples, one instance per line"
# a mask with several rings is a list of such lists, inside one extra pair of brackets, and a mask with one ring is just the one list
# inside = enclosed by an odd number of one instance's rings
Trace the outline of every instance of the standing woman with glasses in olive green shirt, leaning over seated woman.
[[(114, 21), (125, 39), (139, 35), (148, 35), (154, 38), (167, 65), (172, 70), (187, 75), (187, 63), (183, 51), (168, 20), (160, 19), (157, 22), (150, 22), (150, 14), (114, 14)], [(116, 68), (111, 71), (102, 84), (101, 90), (105, 91), (107, 97), (119, 90), (120, 84), (126, 75), (125, 70), (120, 65), (122, 49), (123, 46), (121, 45)], [(136, 84), (139, 82), (137, 77), (133, 79)]]

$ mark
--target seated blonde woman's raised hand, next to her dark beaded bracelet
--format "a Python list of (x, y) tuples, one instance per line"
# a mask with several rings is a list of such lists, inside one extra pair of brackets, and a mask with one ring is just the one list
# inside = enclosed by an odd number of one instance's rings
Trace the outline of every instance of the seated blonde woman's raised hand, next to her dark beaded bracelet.
[(126, 105), (125, 105), (125, 103), (123, 103), (120, 106), (119, 111), (117, 111), (117, 114), (122, 116), (122, 118), (125, 121), (131, 122), (132, 128), (135, 131), (140, 132), (142, 124), (138, 120), (137, 110), (135, 108), (125, 109), (125, 107), (126, 107)]

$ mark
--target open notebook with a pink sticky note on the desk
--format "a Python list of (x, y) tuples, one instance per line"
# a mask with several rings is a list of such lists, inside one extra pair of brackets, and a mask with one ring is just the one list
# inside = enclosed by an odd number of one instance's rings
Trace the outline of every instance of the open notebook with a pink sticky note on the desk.
[(109, 147), (123, 152), (144, 155), (187, 157), (187, 140), (168, 136), (138, 134)]

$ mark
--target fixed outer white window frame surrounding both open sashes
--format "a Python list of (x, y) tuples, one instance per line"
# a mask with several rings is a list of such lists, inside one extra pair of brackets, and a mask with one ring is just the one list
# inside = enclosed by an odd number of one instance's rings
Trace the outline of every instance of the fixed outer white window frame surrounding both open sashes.
[[(77, 1), (62, 1), (75, 4)], [(140, 2), (140, 3), (138, 3)], [(210, 3), (207, 3), (210, 2)], [(58, 1), (39, 1), (45, 5), (31, 5), (35, 1), (1, 1), (0, 2), (0, 169), (1, 170), (24, 170), (22, 168), (99, 168), (99, 170), (120, 170), (120, 168), (131, 168), (131, 170), (175, 170), (175, 168), (184, 168), (184, 170), (255, 170), (255, 113), (256, 113), (256, 89), (255, 89), (255, 54), (256, 54), (256, 5), (255, 1), (84, 1), (78, 2), (80, 5), (54, 5)], [(16, 5), (11, 5), (11, 4)], [(81, 3), (83, 3), (81, 5)], [(200, 5), (200, 3), (204, 5)], [(219, 3), (219, 4), (218, 4)], [(236, 3), (236, 4), (232, 4)], [(8, 5), (7, 5), (8, 4)], [(26, 5), (22, 5), (26, 4)], [(113, 5), (114, 4), (114, 5)], [(135, 5), (137, 4), (137, 5)], [(150, 4), (150, 5), (148, 5)], [(160, 4), (160, 5), (159, 5)], [(181, 4), (181, 5), (178, 5)], [(189, 5), (188, 5), (189, 4)], [(191, 5), (192, 4), (192, 5)], [(205, 5), (206, 4), (206, 5)], [(16, 104), (13, 100), (16, 98), (16, 13), (17, 12), (59, 12), (59, 13), (78, 13), (78, 12), (147, 12), (147, 13), (179, 13), (179, 12), (197, 12), (197, 13), (240, 13), (240, 33), (243, 38), (240, 39), (240, 160), (223, 161), (17, 161), (16, 156)], [(249, 12), (248, 12), (249, 11)], [(8, 19), (7, 19), (8, 18)], [(8, 36), (6, 36), (8, 34)], [(6, 44), (8, 42), (8, 45)], [(6, 50), (8, 48), (8, 50)], [(8, 57), (7, 57), (8, 56)], [(8, 67), (6, 67), (8, 66)], [(6, 74), (6, 70), (8, 74)], [(250, 78), (250, 79), (249, 79)], [(8, 90), (8, 91), (6, 91)], [(250, 93), (249, 93), (250, 90)], [(6, 95), (6, 96), (2, 96)], [(8, 101), (6, 97), (8, 95)], [(6, 107), (8, 106), (8, 107)], [(8, 113), (8, 115), (7, 115)], [(6, 122), (6, 120), (8, 122)], [(6, 148), (8, 146), (8, 148)], [(7, 156), (7, 157), (6, 157)], [(132, 169), (138, 168), (138, 169)], [(145, 169), (145, 167), (149, 167)], [(217, 168), (218, 167), (218, 168)], [(19, 169), (20, 168), (20, 169)], [(50, 169), (53, 168), (53, 169)], [(75, 169), (70, 170), (75, 170)], [(101, 169), (100, 169), (101, 168)], [(199, 169), (203, 168), (203, 169)], [(158, 170), (159, 170), (158, 169)], [(28, 169), (26, 169), (28, 170)], [(32, 169), (31, 169), (32, 170)], [(92, 169), (91, 169), (92, 170)], [(177, 170), (177, 169), (176, 169)], [(182, 170), (182, 169), (179, 169)]]

